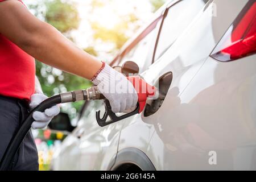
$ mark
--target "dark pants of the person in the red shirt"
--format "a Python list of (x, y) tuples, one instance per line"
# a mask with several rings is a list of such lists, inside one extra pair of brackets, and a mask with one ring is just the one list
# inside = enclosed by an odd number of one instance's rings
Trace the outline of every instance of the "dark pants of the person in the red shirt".
[[(26, 102), (0, 96), (0, 159), (27, 114)], [(38, 167), (38, 151), (30, 130), (20, 144), (10, 170), (38, 170)]]

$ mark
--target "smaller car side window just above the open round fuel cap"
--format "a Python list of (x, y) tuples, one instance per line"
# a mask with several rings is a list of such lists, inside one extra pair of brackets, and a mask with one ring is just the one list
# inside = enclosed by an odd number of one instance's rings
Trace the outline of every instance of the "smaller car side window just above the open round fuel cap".
[[(119, 65), (125, 63), (125, 61), (134, 61), (138, 64), (140, 73), (144, 71), (145, 67), (148, 67), (152, 62), (152, 53), (154, 51), (156, 40), (156, 28), (151, 30), (141, 41), (135, 46), (125, 52), (125, 55), (121, 58)], [(148, 65), (149, 64), (149, 65)]]

